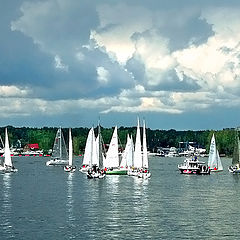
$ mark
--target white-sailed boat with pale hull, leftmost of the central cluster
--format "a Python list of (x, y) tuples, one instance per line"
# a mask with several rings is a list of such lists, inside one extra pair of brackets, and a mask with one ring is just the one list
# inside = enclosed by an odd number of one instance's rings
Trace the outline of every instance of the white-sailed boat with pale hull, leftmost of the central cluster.
[(87, 173), (93, 166), (99, 165), (97, 157), (97, 146), (93, 127), (89, 130), (84, 150), (83, 163), (79, 169), (82, 173)]

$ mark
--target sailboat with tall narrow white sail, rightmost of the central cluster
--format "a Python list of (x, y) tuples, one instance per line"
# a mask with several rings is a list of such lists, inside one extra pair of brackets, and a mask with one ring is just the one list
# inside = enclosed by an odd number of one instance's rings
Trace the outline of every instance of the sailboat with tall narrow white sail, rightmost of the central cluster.
[(142, 166), (143, 168), (140, 170), (138, 174), (139, 178), (150, 178), (151, 173), (148, 169), (148, 153), (147, 153), (147, 137), (146, 137), (146, 125), (145, 121), (143, 121), (143, 154), (142, 154)]

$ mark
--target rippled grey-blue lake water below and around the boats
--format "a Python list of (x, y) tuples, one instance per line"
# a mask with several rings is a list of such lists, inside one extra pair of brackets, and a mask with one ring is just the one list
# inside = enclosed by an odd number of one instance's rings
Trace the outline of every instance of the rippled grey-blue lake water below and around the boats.
[[(181, 175), (182, 158), (150, 157), (151, 179), (87, 179), (13, 158), (0, 174), (0, 239), (239, 239), (240, 175)], [(206, 161), (207, 159), (205, 159)], [(75, 161), (80, 165), (80, 159)]]

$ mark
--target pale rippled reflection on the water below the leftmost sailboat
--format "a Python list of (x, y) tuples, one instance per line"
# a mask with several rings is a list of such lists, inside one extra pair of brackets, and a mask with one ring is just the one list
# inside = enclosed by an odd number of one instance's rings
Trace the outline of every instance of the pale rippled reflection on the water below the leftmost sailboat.
[[(11, 173), (5, 173), (2, 176), (2, 206), (1, 206), (1, 226), (3, 229), (3, 236), (13, 238), (13, 226), (11, 222), (12, 216), (12, 196), (11, 196)], [(4, 237), (3, 237), (4, 238)]]

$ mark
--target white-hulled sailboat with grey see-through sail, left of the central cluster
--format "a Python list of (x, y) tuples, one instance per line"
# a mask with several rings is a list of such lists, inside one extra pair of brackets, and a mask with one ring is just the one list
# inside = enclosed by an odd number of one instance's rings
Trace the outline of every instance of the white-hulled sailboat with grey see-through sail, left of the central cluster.
[(52, 157), (49, 161), (46, 162), (47, 166), (64, 166), (68, 164), (68, 153), (65, 140), (63, 137), (62, 129), (59, 128), (52, 151)]

